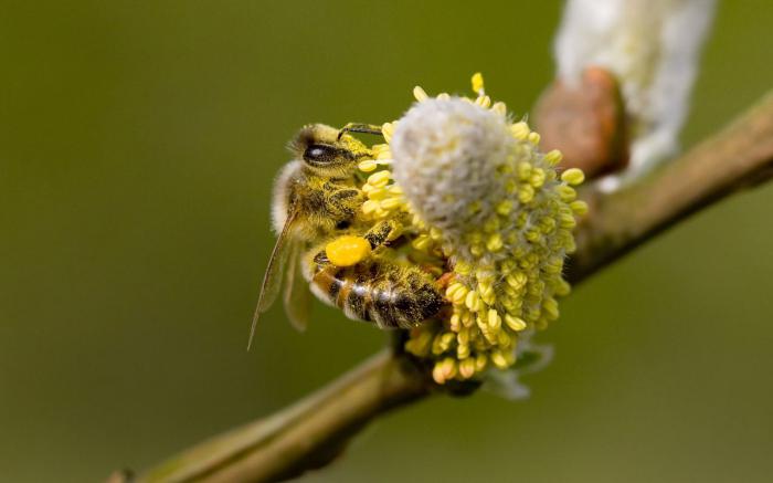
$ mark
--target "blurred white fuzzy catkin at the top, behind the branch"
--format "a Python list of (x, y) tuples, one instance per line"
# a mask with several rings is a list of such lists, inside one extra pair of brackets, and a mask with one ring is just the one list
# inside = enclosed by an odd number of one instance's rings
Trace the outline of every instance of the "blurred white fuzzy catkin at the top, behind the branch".
[(631, 172), (678, 149), (716, 0), (568, 0), (555, 39), (559, 76), (614, 73), (634, 120)]

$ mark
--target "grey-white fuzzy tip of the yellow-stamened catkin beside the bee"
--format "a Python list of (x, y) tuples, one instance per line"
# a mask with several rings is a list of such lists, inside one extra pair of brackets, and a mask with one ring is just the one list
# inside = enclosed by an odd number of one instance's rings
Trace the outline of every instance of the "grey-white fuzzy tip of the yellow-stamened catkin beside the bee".
[(393, 176), (424, 221), (458, 235), (491, 216), (486, 200), (504, 198), (496, 171), (515, 143), (505, 116), (458, 97), (428, 98), (395, 128)]

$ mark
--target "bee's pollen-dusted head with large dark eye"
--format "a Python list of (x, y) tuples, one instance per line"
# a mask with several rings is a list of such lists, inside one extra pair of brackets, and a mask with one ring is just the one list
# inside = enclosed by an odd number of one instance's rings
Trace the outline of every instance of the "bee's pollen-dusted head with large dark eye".
[(372, 157), (368, 147), (348, 134), (324, 124), (305, 126), (289, 145), (290, 151), (314, 172), (347, 177), (357, 162)]

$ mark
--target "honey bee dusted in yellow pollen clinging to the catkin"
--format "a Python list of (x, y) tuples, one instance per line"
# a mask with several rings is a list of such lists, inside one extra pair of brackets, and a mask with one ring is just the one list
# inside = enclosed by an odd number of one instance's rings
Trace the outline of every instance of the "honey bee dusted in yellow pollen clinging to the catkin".
[[(381, 128), (314, 124), (289, 145), (295, 159), (282, 169), (274, 186), (272, 214), (278, 238), (261, 286), (250, 343), (261, 314), (283, 286), (285, 311), (299, 329), (307, 324), (310, 292), (349, 318), (384, 329), (415, 327), (444, 304), (433, 277), (400, 262), (390, 248), (402, 237), (400, 220), (373, 224), (363, 219), (367, 197), (358, 188), (357, 165), (372, 159), (373, 153), (349, 133), (380, 135)], [(351, 263), (339, 256), (333, 263), (329, 251), (336, 241), (343, 243), (338, 243), (337, 251), (345, 258), (349, 251), (359, 256)]]

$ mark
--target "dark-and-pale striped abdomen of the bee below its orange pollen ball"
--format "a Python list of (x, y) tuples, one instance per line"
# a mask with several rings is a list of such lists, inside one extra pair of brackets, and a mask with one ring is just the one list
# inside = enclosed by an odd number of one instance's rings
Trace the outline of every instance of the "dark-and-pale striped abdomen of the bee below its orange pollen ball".
[(349, 267), (318, 263), (311, 286), (317, 296), (341, 308), (347, 317), (380, 328), (415, 327), (443, 306), (443, 296), (423, 272), (386, 262)]

